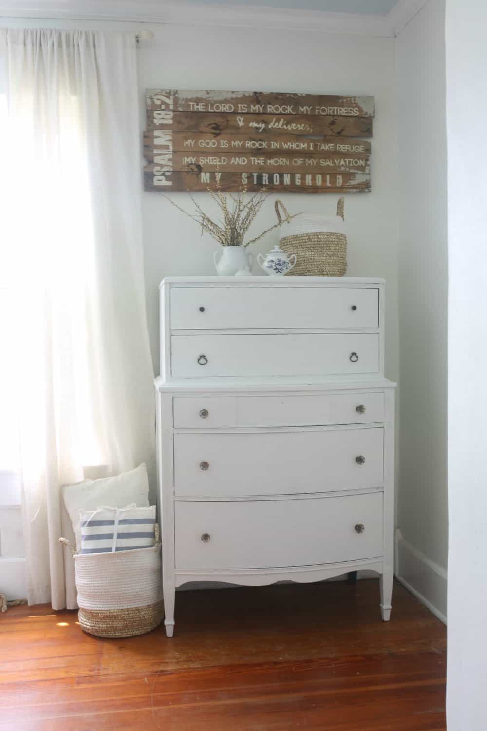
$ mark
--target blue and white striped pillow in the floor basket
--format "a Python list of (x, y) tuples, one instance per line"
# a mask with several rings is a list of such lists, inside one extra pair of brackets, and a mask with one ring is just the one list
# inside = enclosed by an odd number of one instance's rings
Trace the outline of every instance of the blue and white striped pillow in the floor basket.
[(156, 543), (156, 506), (80, 510), (81, 553), (110, 553)]

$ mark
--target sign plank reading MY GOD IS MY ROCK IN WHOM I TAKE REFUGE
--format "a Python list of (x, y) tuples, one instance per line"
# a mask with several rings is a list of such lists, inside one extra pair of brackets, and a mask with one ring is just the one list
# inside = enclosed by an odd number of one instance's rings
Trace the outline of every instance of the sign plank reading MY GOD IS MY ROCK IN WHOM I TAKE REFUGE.
[[(275, 139), (261, 135), (225, 134), (212, 132), (172, 132), (166, 129), (151, 129), (144, 132), (145, 151), (152, 155), (153, 148), (172, 152), (196, 151), (233, 153), (286, 152), (296, 154), (362, 154), (371, 151), (369, 140), (356, 140), (353, 137), (299, 137), (298, 135), (277, 135)], [(152, 159), (148, 157), (147, 159)]]

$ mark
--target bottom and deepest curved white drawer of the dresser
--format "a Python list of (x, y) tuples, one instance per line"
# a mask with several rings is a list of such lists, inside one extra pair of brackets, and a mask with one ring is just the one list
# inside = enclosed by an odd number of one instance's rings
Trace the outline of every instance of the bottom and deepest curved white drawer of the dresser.
[(356, 561), (383, 553), (383, 496), (177, 502), (175, 535), (176, 569), (182, 570)]

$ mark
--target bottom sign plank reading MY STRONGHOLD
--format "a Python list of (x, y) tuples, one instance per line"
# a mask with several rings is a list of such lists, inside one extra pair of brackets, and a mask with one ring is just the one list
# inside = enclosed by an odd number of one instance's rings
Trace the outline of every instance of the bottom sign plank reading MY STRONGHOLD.
[(217, 175), (221, 190), (229, 192), (247, 185), (249, 191), (280, 193), (348, 193), (370, 191), (370, 175), (364, 173), (183, 173), (165, 171), (164, 166), (149, 164), (144, 168), (146, 191), (164, 193), (207, 191), (216, 189)]

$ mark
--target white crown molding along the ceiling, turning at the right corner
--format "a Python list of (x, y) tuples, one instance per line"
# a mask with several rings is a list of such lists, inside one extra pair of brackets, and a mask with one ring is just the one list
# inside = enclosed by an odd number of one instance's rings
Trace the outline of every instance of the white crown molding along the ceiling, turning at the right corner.
[(0, 0), (0, 17), (112, 20), (170, 26), (218, 26), (267, 30), (398, 35), (426, 0), (399, 0), (388, 15), (290, 10), (258, 5), (199, 5), (186, 0)]

